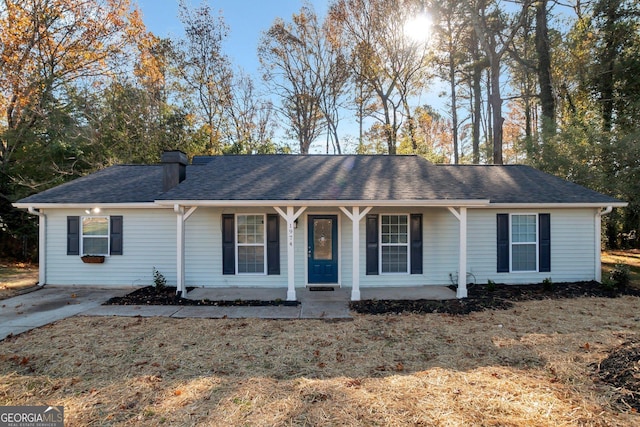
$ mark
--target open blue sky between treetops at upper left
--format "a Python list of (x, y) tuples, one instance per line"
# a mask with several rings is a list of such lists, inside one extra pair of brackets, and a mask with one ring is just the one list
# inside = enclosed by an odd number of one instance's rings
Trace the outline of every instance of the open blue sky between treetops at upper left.
[[(188, 0), (192, 7), (200, 0)], [(178, 0), (137, 0), (147, 29), (160, 37), (182, 36), (182, 24), (178, 19)], [(303, 0), (209, 0), (211, 8), (221, 11), (229, 26), (225, 53), (234, 65), (257, 76), (257, 47), (260, 36), (277, 17), (289, 20), (300, 10)], [(329, 0), (311, 1), (318, 15), (323, 16)]]

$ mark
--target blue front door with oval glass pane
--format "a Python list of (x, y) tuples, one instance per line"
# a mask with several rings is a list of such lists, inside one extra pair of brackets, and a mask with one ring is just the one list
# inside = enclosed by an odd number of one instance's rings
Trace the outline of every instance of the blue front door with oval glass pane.
[(338, 283), (338, 217), (309, 215), (309, 283)]

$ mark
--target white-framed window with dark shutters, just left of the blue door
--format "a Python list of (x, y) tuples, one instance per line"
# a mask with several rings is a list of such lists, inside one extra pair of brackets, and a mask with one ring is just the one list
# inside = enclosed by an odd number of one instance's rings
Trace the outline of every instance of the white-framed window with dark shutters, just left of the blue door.
[(264, 215), (236, 216), (238, 273), (264, 274), (266, 262)]

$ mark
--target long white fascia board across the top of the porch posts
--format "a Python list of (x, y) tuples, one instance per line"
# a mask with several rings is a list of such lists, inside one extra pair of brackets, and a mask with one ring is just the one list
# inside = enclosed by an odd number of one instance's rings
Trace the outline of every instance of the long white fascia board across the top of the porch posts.
[(423, 206), (488, 207), (489, 200), (157, 200), (161, 206), (255, 207), (255, 206)]

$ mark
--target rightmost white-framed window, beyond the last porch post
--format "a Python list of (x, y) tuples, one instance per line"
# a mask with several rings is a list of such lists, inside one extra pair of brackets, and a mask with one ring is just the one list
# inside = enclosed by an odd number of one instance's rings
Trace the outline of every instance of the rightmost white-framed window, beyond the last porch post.
[(511, 215), (511, 271), (538, 270), (538, 215)]

